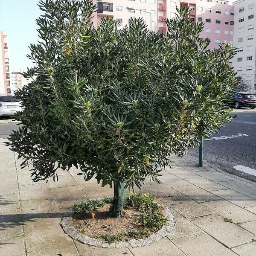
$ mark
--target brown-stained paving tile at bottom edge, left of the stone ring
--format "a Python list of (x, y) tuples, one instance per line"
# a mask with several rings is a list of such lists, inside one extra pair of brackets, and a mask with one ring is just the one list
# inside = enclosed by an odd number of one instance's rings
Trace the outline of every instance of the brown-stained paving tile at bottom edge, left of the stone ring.
[(78, 256), (73, 240), (61, 226), (60, 218), (42, 218), (26, 222), (24, 235), (28, 256)]

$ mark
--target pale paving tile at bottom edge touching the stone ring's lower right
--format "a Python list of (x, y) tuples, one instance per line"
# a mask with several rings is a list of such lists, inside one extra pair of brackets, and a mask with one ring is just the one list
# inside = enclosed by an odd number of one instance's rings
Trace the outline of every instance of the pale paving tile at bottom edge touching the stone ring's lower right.
[(134, 256), (185, 256), (166, 237), (145, 247), (135, 247), (130, 249)]

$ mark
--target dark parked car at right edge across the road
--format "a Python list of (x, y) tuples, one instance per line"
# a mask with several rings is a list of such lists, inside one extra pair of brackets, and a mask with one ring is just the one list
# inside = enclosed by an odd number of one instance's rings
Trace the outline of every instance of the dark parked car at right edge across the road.
[(234, 108), (256, 108), (256, 96), (253, 93), (238, 92), (231, 96), (231, 106)]

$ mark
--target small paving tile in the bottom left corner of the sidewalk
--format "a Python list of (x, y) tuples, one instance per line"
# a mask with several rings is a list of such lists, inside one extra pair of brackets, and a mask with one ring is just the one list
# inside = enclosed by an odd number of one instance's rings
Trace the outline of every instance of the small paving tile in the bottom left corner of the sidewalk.
[(25, 256), (23, 236), (0, 239), (0, 256)]

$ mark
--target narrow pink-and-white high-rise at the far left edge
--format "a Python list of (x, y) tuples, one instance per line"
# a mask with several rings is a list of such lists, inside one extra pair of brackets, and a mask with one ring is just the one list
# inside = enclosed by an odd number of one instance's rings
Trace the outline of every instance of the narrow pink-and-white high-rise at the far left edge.
[(8, 37), (0, 31), (0, 93), (13, 92), (10, 70)]

